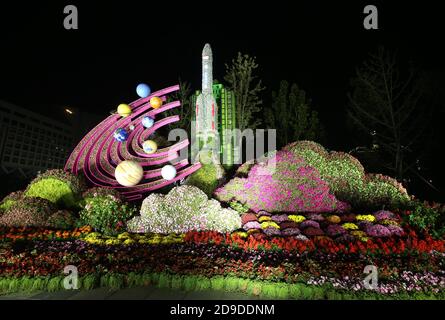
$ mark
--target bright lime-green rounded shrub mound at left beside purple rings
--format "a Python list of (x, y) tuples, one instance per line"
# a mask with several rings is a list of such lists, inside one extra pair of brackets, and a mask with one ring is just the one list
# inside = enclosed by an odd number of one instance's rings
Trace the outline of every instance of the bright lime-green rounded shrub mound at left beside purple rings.
[(66, 208), (76, 207), (85, 189), (81, 177), (54, 169), (39, 174), (25, 190), (25, 197), (40, 197)]

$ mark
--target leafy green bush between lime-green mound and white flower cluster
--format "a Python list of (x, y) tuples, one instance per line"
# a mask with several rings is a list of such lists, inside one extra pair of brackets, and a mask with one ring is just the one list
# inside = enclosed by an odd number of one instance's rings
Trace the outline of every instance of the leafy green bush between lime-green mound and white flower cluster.
[(87, 198), (80, 219), (105, 235), (116, 235), (125, 230), (126, 221), (135, 213), (134, 207), (112, 197)]

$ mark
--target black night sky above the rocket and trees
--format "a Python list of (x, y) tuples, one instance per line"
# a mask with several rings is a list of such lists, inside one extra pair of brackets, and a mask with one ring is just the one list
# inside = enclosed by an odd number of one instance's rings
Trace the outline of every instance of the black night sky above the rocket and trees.
[[(68, 4), (79, 10), (79, 30), (63, 28)], [(363, 28), (366, 4), (379, 9), (378, 31)], [(348, 150), (349, 79), (379, 45), (431, 74), (443, 116), (439, 8), (437, 1), (2, 2), (0, 99), (42, 113), (63, 106), (105, 116), (135, 100), (140, 82), (156, 90), (181, 77), (200, 89), (201, 50), (209, 42), (215, 79), (238, 51), (256, 56), (266, 103), (281, 79), (296, 82), (320, 112), (328, 146)]]

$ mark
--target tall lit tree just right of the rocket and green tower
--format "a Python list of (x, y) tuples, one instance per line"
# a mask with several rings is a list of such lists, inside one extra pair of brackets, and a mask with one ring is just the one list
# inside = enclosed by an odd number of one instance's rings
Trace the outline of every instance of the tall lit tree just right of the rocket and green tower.
[(258, 64), (255, 57), (238, 52), (238, 56), (226, 64), (224, 80), (235, 93), (236, 121), (238, 128), (255, 128), (259, 121), (255, 113), (260, 111), (262, 100), (261, 92), (264, 90), (261, 80), (257, 81), (255, 75)]

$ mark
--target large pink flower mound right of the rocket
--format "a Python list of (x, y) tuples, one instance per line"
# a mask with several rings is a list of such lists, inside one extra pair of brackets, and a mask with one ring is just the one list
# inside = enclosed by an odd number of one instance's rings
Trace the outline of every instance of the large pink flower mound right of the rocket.
[(247, 178), (235, 178), (215, 191), (218, 200), (245, 203), (254, 212), (337, 212), (348, 205), (337, 200), (316, 169), (290, 151), (278, 151), (255, 164)]

